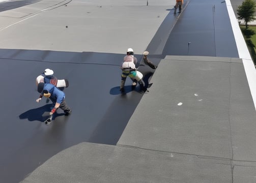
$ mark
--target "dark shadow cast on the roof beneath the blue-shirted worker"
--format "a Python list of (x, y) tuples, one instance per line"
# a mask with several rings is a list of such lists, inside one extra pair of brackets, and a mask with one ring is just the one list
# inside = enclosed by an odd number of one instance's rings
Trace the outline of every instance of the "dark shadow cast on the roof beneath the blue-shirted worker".
[[(53, 108), (52, 104), (46, 104), (42, 107), (36, 108), (36, 109), (30, 109), (22, 114), (19, 115), (20, 119), (28, 119), (29, 121), (41, 121), (44, 122), (48, 117), (49, 117), (49, 112)], [(52, 116), (52, 120), (55, 117), (65, 115), (64, 113), (57, 113), (55, 112), (54, 115)]]

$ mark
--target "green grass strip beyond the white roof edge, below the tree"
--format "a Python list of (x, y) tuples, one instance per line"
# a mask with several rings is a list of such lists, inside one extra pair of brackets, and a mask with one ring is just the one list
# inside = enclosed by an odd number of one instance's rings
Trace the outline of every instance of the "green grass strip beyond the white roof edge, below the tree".
[(246, 29), (245, 25), (240, 25), (240, 28), (243, 33), (244, 40), (247, 44), (253, 63), (254, 65), (256, 65), (256, 26), (249, 26)]

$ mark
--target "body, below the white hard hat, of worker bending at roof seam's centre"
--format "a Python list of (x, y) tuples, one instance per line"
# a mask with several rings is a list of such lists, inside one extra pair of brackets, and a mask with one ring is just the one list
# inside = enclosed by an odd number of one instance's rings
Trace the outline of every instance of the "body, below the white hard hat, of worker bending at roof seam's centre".
[[(136, 80), (139, 83), (140, 90), (142, 92), (146, 92), (147, 88), (145, 87), (145, 84), (142, 80), (143, 74), (141, 74), (139, 71), (136, 70), (133, 55), (126, 55), (124, 57), (124, 62), (121, 66), (122, 69), (122, 75), (121, 75), (121, 85), (120, 85), (120, 91), (124, 92), (124, 85), (127, 76), (129, 76), (133, 81)], [(135, 85), (136, 86), (136, 85)], [(133, 85), (133, 87), (135, 87)]]

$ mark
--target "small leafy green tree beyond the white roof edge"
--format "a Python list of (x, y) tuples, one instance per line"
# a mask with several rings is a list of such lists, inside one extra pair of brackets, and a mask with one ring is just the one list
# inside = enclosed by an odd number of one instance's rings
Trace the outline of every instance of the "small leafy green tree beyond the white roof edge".
[(239, 20), (244, 20), (246, 29), (248, 22), (256, 20), (254, 13), (256, 10), (255, 0), (245, 0), (242, 5), (238, 6), (237, 15)]

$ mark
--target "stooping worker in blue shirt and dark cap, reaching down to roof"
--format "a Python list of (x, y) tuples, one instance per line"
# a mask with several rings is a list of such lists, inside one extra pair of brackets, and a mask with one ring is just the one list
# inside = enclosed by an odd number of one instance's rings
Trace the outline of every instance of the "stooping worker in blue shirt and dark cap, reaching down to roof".
[(65, 93), (59, 88), (49, 83), (40, 82), (37, 86), (37, 91), (40, 93), (40, 97), (36, 102), (40, 102), (43, 96), (52, 101), (54, 107), (50, 111), (50, 115), (56, 112), (58, 108), (61, 108), (65, 112), (65, 115), (71, 114), (71, 109), (65, 101)]

